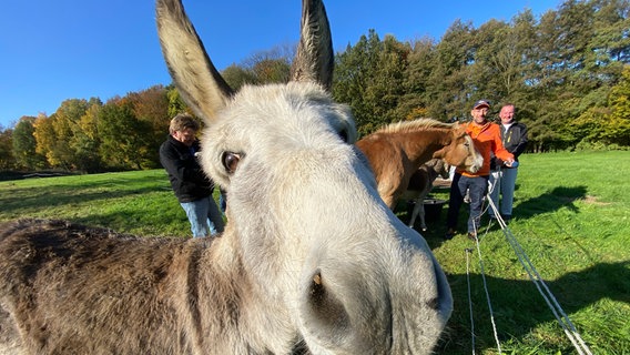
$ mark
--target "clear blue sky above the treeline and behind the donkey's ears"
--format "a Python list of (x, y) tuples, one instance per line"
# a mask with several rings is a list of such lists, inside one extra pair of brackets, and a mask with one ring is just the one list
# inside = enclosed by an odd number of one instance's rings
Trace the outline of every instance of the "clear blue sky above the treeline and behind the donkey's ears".
[[(328, 0), (335, 51), (375, 29), (399, 41), (439, 40), (456, 20), (479, 27), (525, 9), (539, 18), (559, 0)], [(301, 1), (184, 0), (219, 70), (297, 41)], [(169, 84), (152, 0), (7, 0), (0, 14), (0, 128), (54, 113), (67, 99)]]

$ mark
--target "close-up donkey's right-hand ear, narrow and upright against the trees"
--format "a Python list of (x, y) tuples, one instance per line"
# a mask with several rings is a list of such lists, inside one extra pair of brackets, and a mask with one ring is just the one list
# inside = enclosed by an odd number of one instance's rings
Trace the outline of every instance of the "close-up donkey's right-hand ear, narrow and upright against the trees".
[(324, 3), (302, 0), (299, 44), (291, 67), (291, 80), (317, 82), (331, 91), (333, 65), (333, 39)]

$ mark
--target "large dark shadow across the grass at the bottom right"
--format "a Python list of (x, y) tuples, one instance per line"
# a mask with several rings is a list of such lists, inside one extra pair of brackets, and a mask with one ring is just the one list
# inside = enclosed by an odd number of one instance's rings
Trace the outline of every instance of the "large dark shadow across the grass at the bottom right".
[[(471, 327), (467, 275), (448, 275), (448, 280), (455, 295), (456, 312), (447, 325), (447, 332), (436, 348), (436, 353), (470, 354)], [(551, 310), (531, 281), (486, 276), (486, 284), (500, 342), (511, 338), (519, 342), (525, 341), (527, 336), (531, 336), (532, 328), (547, 322), (555, 322), (558, 329), (561, 329)], [(572, 313), (602, 298), (630, 304), (630, 261), (600, 263), (581, 272), (568, 273), (555, 281), (546, 281), (546, 284), (562, 310), (569, 315), (569, 318), (571, 318)], [(470, 297), (474, 300), (476, 351), (496, 349), (481, 275), (470, 275)], [(576, 324), (575, 321), (573, 324)], [(628, 339), (611, 339), (611, 344), (623, 343), (624, 346), (630, 346), (626, 342)], [(599, 345), (602, 346), (603, 344)], [(557, 346), (557, 344), (550, 346)], [(540, 345), (540, 354), (553, 354), (557, 351), (561, 351), (562, 354), (571, 354), (575, 351), (570, 345), (561, 349), (549, 348), (545, 351), (543, 347), (545, 344)]]

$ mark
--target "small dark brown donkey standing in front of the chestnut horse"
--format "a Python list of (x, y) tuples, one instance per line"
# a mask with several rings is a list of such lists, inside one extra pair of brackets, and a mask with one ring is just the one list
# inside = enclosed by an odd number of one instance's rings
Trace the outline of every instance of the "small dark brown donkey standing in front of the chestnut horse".
[(403, 193), (403, 200), (414, 200), (414, 210), (409, 217), (408, 225), (414, 227), (416, 217), (420, 217), (420, 230), (427, 230), (425, 221), (425, 199), (433, 189), (434, 181), (441, 176), (448, 179), (449, 165), (441, 159), (431, 159), (424, 163), (409, 179), (407, 191)]

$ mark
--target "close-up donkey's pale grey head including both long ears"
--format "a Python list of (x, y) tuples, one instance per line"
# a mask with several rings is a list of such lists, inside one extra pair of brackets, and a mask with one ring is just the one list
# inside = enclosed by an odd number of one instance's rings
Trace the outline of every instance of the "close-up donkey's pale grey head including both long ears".
[[(423, 237), (384, 205), (334, 103), (333, 50), (321, 1), (304, 0), (292, 82), (234, 93), (180, 0), (158, 0), (162, 50), (177, 89), (204, 119), (202, 165), (227, 192), (213, 244), (251, 293), (238, 310), (252, 352), (429, 353), (451, 311)], [(247, 305), (245, 307), (244, 305)]]

